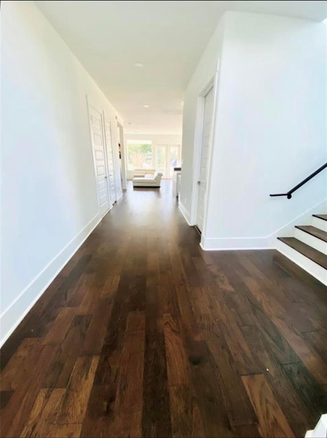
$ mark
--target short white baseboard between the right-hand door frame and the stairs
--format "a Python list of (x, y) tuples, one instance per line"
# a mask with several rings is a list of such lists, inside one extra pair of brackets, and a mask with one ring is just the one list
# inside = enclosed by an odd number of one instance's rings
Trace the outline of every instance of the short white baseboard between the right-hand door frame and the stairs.
[(221, 251), (228, 249), (271, 249), (274, 246), (266, 237), (205, 238), (201, 236), (201, 248), (204, 251)]

